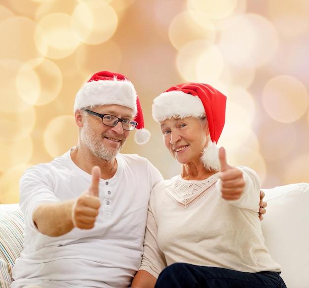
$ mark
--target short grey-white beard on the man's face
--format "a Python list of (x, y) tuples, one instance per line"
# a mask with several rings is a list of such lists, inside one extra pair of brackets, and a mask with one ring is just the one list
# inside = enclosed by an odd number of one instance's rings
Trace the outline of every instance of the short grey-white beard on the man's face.
[(83, 127), (80, 129), (79, 135), (81, 143), (87, 146), (95, 157), (106, 161), (115, 159), (125, 142), (123, 142), (118, 149), (106, 147), (102, 142), (104, 137), (102, 135), (95, 135), (91, 131), (92, 130), (90, 129), (88, 122), (84, 122)]

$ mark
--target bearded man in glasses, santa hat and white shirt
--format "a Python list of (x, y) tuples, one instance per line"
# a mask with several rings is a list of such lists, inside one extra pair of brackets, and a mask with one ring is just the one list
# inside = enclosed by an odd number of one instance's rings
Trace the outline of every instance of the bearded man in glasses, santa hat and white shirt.
[(135, 88), (96, 73), (74, 112), (77, 146), (20, 180), (25, 243), (12, 288), (130, 287), (140, 266), (150, 191), (163, 178), (147, 159), (119, 153), (135, 128), (137, 143), (150, 136)]

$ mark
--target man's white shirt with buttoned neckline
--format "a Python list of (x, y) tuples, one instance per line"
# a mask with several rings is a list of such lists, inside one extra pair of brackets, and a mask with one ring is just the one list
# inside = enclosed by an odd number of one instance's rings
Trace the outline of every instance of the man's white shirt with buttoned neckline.
[(77, 198), (88, 189), (91, 175), (73, 163), (70, 151), (24, 173), (20, 181), (24, 250), (13, 268), (12, 288), (131, 286), (141, 263), (150, 192), (163, 177), (140, 156), (119, 154), (116, 160), (115, 175), (100, 179), (95, 227), (74, 228), (60, 237), (39, 233), (33, 211), (42, 203)]

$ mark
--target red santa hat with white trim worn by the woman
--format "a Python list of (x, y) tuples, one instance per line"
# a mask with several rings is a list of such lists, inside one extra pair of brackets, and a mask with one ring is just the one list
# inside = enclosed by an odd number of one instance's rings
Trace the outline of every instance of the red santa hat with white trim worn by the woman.
[(217, 142), (225, 124), (227, 97), (208, 84), (182, 83), (170, 87), (154, 99), (153, 118), (161, 122), (173, 117), (206, 116), (212, 143), (203, 150), (201, 161), (206, 168), (218, 170)]

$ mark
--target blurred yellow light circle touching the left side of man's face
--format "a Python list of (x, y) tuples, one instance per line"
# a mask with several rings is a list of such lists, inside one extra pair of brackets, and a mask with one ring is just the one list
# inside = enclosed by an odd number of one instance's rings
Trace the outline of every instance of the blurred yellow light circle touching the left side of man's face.
[(44, 131), (48, 154), (56, 158), (77, 144), (78, 130), (74, 116), (63, 115), (50, 121)]

